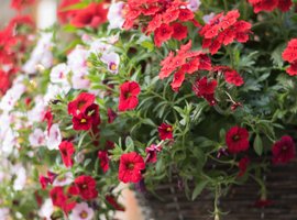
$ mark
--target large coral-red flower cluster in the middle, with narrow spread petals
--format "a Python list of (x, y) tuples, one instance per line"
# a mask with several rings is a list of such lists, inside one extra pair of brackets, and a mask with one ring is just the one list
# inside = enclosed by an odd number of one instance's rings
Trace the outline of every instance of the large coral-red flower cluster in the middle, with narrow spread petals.
[(183, 45), (174, 56), (170, 52), (168, 56), (161, 62), (162, 69), (158, 74), (161, 79), (167, 78), (173, 72), (174, 79), (172, 82), (173, 90), (177, 91), (185, 80), (186, 74), (194, 74), (198, 70), (210, 70), (210, 58), (202, 52), (190, 51), (191, 41)]

